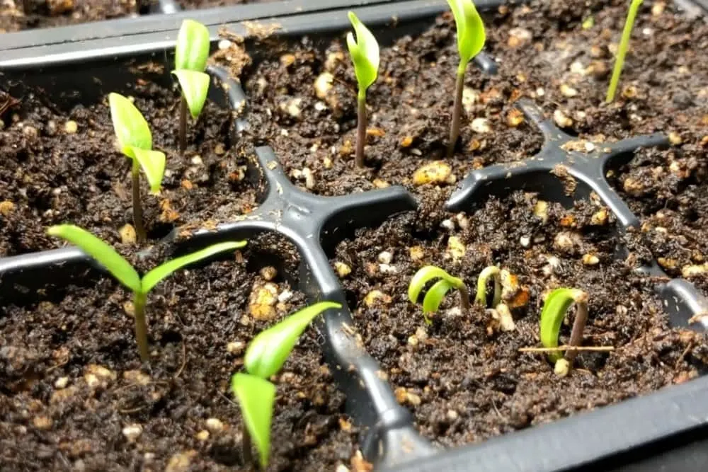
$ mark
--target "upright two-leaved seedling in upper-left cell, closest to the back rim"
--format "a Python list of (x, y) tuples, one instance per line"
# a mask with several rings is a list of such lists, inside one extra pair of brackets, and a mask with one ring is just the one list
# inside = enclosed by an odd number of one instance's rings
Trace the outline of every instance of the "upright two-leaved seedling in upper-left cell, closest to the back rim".
[(192, 119), (196, 120), (209, 93), (209, 74), (207, 59), (209, 58), (209, 30), (205, 25), (194, 20), (182, 22), (177, 34), (175, 47), (175, 69), (182, 98), (179, 109), (179, 150), (187, 148), (187, 109)]

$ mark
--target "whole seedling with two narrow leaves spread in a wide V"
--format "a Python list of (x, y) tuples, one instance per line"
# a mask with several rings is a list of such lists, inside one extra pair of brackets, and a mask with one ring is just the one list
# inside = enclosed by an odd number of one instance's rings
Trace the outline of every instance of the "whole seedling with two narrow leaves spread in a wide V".
[(101, 241), (101, 239), (93, 236), (89, 231), (72, 224), (61, 224), (59, 226), (50, 227), (50, 229), (47, 230), (47, 234), (63, 238), (69, 241), (69, 243), (78, 246), (81, 251), (84, 251), (84, 253), (95, 259), (96, 262), (103, 265), (118, 282), (125, 285), (125, 287), (133, 293), (135, 339), (137, 340), (138, 352), (140, 353), (142, 362), (149, 360), (145, 304), (147, 303), (147, 294), (149, 294), (150, 290), (165, 277), (185, 267), (185, 265), (190, 265), (223, 251), (246, 246), (246, 241), (215, 244), (201, 251), (183, 255), (181, 258), (170, 260), (159, 267), (155, 267), (153, 270), (147, 272), (141, 279), (137, 271), (122, 255), (118, 254), (115, 249), (108, 246), (108, 244)]

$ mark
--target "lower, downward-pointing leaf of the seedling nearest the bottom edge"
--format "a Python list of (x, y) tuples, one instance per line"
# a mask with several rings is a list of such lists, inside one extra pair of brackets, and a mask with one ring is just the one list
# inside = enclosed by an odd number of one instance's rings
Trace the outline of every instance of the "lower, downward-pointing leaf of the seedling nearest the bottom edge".
[(268, 466), (270, 456), (270, 422), (273, 420), (275, 385), (249, 374), (234, 374), (231, 391), (241, 405), (246, 430), (251, 434), (261, 459), (261, 468)]

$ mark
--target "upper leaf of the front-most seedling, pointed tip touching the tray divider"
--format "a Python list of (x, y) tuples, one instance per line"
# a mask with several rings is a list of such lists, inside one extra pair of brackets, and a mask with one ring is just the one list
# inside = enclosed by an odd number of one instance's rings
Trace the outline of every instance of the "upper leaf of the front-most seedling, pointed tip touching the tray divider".
[(333, 301), (320, 301), (312, 306), (293, 313), (275, 326), (261, 331), (244, 356), (244, 367), (249, 374), (268, 379), (280, 370), (282, 364), (295, 347), (302, 332), (320, 313), (331, 308), (341, 308), (341, 304)]

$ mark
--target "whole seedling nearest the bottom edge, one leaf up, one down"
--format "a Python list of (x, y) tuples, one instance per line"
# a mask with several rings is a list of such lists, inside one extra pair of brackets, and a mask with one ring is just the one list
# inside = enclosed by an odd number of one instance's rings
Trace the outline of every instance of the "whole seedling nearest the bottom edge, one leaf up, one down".
[(270, 422), (273, 418), (275, 385), (268, 379), (285, 364), (292, 348), (304, 330), (320, 313), (340, 309), (341, 304), (320, 301), (293, 313), (275, 326), (256, 335), (244, 357), (247, 373), (236, 373), (231, 379), (231, 390), (241, 406), (245, 430), (243, 449), (246, 463), (251, 464), (251, 438), (258, 449), (261, 468), (268, 466), (270, 456)]

